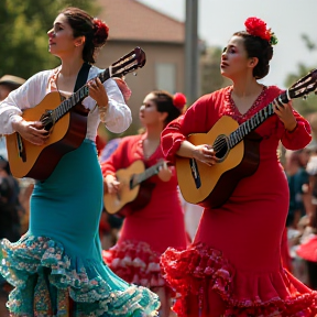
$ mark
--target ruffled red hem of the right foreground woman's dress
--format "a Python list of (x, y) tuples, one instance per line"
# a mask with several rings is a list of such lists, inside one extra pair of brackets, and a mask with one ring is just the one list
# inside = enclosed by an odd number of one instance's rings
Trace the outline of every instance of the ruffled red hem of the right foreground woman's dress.
[(313, 317), (317, 313), (317, 293), (287, 271), (238, 272), (220, 251), (203, 243), (192, 244), (185, 251), (168, 248), (161, 258), (161, 266), (163, 276), (178, 294), (173, 307), (178, 317), (187, 316), (188, 295), (197, 296), (204, 310), (204, 294), (210, 288), (226, 303), (226, 317)]

